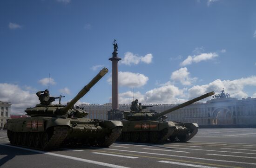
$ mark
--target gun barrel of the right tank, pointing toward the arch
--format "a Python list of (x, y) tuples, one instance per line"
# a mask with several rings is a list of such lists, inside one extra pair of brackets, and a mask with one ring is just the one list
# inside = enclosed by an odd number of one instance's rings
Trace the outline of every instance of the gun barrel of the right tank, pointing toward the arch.
[(204, 99), (204, 98), (206, 98), (206, 97), (209, 97), (209, 96), (212, 96), (212, 95), (214, 95), (214, 94), (215, 94), (214, 91), (211, 91), (211, 92), (206, 93), (206, 94), (204, 94), (204, 95), (202, 95), (202, 96), (200, 96), (200, 97), (196, 97), (196, 98), (194, 98), (194, 99), (192, 99), (192, 100), (189, 100), (189, 101), (187, 101), (187, 102), (185, 102), (185, 103), (179, 104), (179, 105), (177, 105), (177, 106), (175, 106), (175, 107), (173, 107), (173, 108), (171, 108), (171, 109), (168, 109), (168, 110), (165, 110), (165, 111), (163, 111), (163, 112), (161, 112), (161, 113), (159, 113), (159, 114), (156, 114), (154, 117), (155, 117), (155, 118), (158, 118), (158, 117), (160, 117), (160, 116), (163, 116), (163, 115), (168, 114), (168, 113), (170, 113), (170, 112), (172, 112), (172, 111), (181, 109), (182, 107), (188, 106), (188, 105), (190, 105), (190, 104), (192, 104), (192, 103), (195, 103), (195, 102), (197, 102), (197, 101), (199, 101), (199, 100), (202, 100), (202, 99)]

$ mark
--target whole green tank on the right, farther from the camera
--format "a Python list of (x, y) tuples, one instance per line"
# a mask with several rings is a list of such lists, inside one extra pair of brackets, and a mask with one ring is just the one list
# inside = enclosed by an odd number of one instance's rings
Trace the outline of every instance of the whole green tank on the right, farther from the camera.
[[(172, 111), (188, 106), (203, 98), (214, 95), (214, 91), (196, 97), (185, 103), (179, 104), (161, 113), (144, 111), (123, 111), (123, 128), (121, 136), (117, 141), (122, 142), (150, 142), (159, 143), (165, 141), (189, 141), (198, 131), (197, 123), (182, 123), (174, 121), (164, 121)], [(147, 106), (144, 106), (147, 107)]]

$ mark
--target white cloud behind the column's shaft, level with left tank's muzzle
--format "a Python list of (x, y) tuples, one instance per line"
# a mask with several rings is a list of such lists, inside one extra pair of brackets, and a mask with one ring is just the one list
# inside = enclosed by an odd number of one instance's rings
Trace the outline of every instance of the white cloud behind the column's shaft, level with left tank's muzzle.
[[(140, 73), (118, 72), (118, 84), (127, 87), (141, 87), (148, 82), (148, 77)], [(108, 83), (112, 83), (112, 77), (108, 78)]]

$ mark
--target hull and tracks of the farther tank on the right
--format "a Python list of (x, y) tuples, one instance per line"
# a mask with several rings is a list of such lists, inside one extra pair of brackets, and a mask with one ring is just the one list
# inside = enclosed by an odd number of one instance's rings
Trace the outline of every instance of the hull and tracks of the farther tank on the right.
[(198, 131), (197, 123), (180, 123), (172, 121), (122, 121), (121, 142), (187, 142)]

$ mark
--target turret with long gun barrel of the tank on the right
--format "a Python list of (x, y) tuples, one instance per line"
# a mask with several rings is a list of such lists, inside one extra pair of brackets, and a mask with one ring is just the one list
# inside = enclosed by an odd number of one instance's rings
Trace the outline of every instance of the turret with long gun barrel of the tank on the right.
[(202, 100), (206, 97), (212, 96), (214, 95), (214, 91), (206, 93), (200, 97), (196, 97), (192, 100), (189, 100), (185, 103), (179, 104), (173, 108), (170, 108), (168, 110), (165, 110), (161, 113), (154, 113), (154, 112), (150, 112), (150, 111), (131, 111), (131, 112), (124, 112), (124, 119), (126, 120), (163, 120), (165, 118), (167, 118), (167, 116), (164, 116), (172, 111), (181, 109), (182, 107), (188, 106), (192, 103), (195, 103), (199, 100)]

